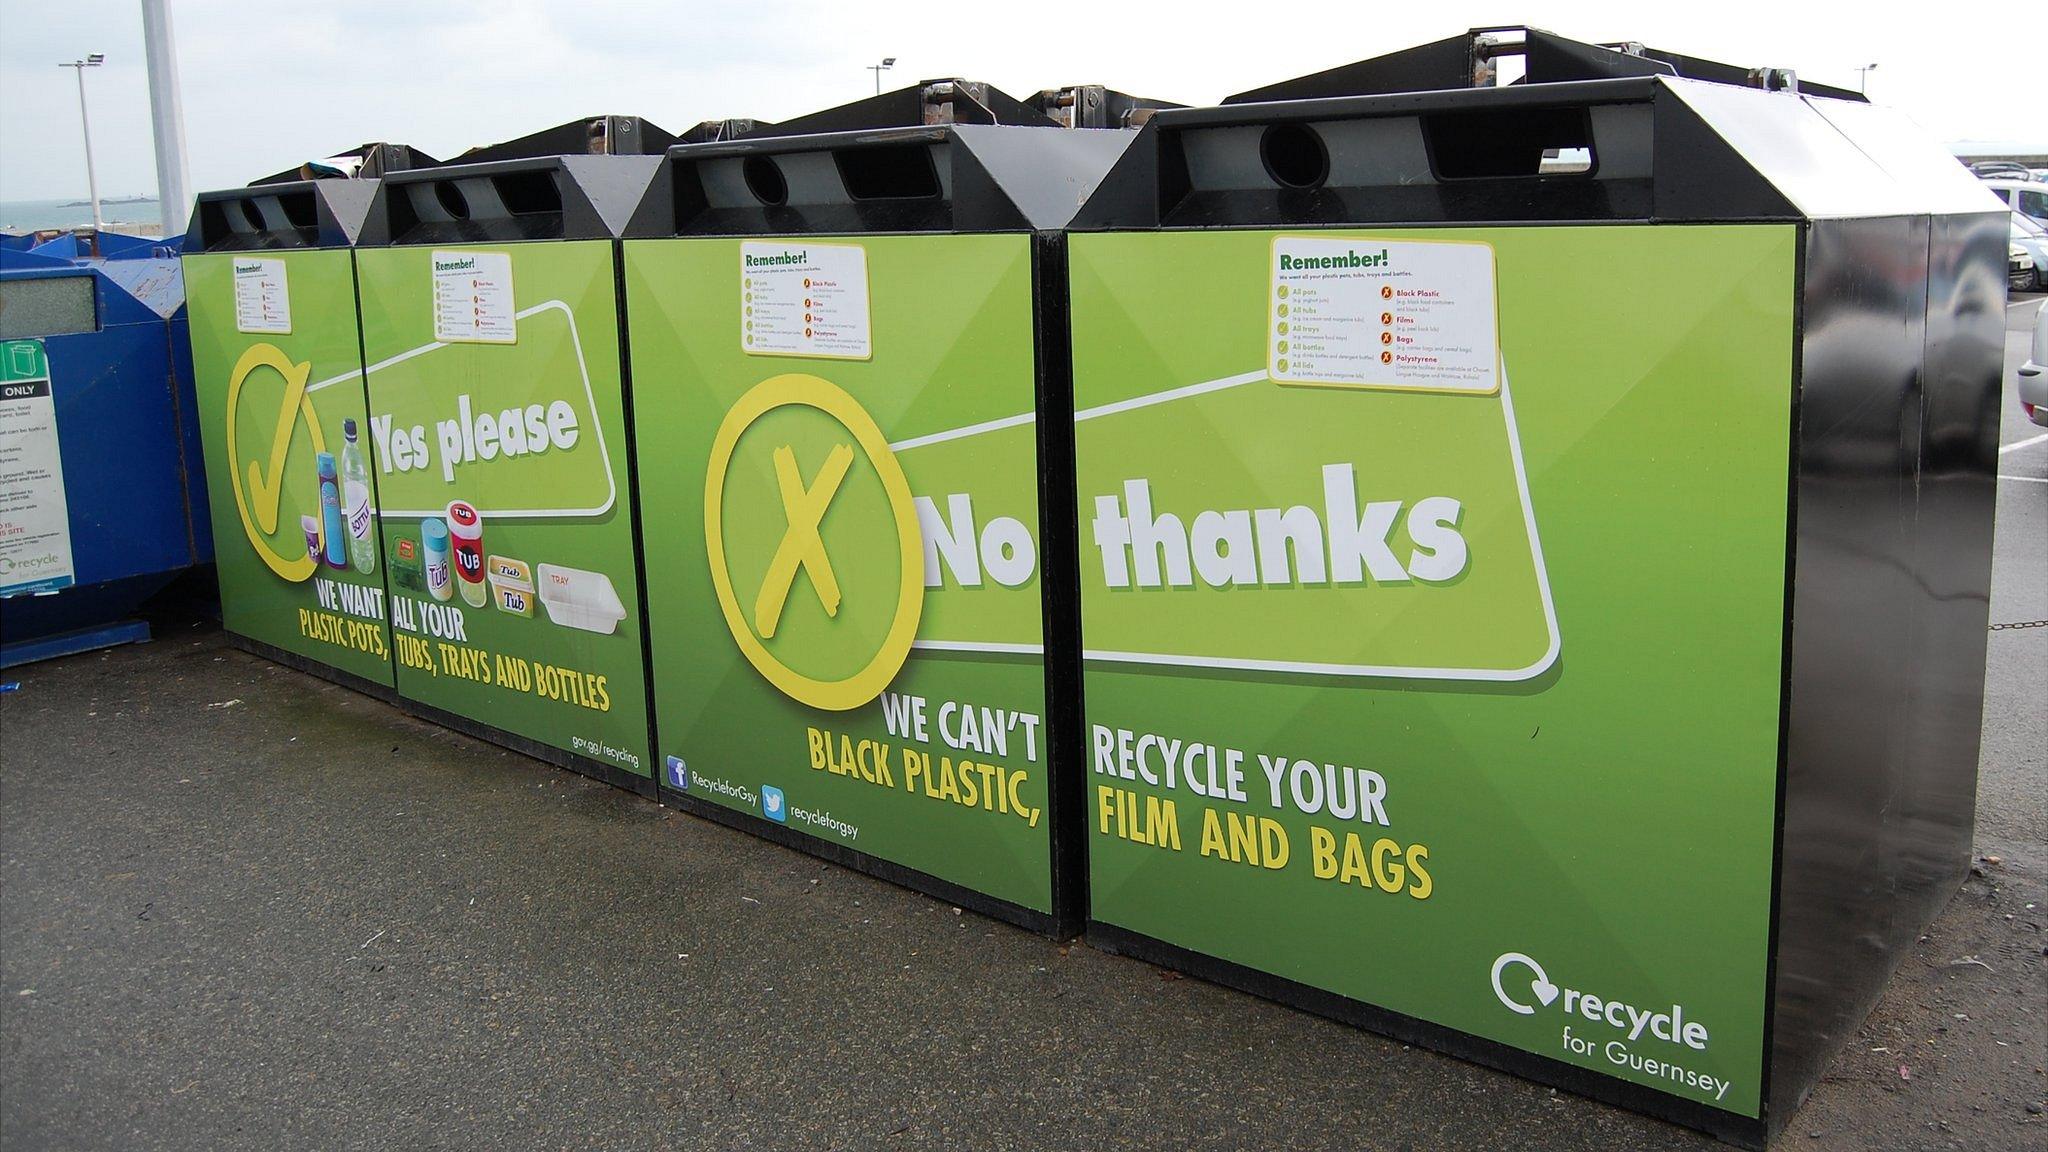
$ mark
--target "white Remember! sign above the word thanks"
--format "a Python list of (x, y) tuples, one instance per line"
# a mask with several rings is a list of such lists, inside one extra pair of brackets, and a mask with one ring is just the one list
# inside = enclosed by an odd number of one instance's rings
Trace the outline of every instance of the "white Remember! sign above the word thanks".
[(1276, 236), (1266, 353), (1276, 383), (1499, 392), (1493, 246)]

